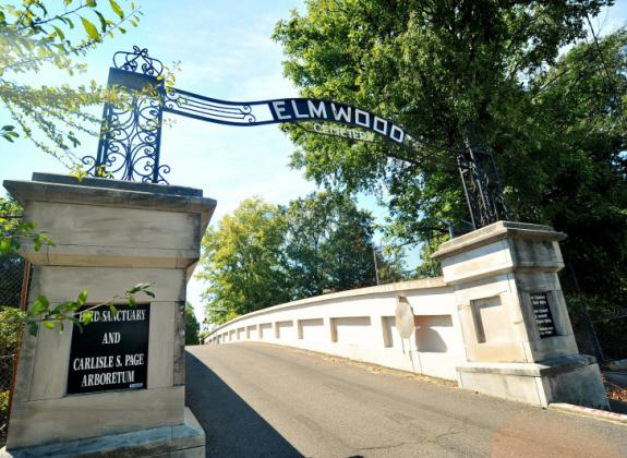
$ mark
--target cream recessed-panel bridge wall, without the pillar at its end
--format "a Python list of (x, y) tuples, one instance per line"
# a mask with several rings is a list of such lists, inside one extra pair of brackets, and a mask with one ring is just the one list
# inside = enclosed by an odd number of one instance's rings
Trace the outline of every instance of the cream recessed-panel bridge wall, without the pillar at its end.
[[(415, 330), (396, 329), (397, 297), (413, 309)], [(240, 316), (214, 329), (206, 343), (262, 341), (457, 379), (465, 362), (454, 289), (442, 278), (303, 299)]]

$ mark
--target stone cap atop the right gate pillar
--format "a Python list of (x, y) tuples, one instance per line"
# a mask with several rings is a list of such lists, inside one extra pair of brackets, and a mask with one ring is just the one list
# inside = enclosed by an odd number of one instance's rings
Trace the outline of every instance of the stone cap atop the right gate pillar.
[(442, 262), (447, 284), (471, 281), (514, 270), (558, 272), (564, 267), (551, 226), (497, 221), (444, 242), (432, 257)]

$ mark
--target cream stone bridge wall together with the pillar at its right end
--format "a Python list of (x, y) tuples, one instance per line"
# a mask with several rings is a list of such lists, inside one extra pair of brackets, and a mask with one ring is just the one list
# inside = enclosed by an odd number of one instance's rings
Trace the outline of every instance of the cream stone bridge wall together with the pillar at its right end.
[(608, 408), (594, 358), (578, 352), (557, 278), (564, 237), (501, 221), (444, 243), (434, 254), (443, 277), (260, 310), (206, 341), (318, 351), (542, 407)]

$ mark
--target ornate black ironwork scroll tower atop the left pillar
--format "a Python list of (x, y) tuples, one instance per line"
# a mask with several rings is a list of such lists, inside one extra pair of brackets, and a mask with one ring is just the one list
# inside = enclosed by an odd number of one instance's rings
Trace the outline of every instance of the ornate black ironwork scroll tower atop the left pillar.
[(170, 168), (159, 160), (164, 65), (136, 46), (133, 52), (116, 52), (113, 65), (107, 85), (119, 86), (122, 100), (105, 104), (97, 155), (83, 164), (95, 177), (168, 184), (164, 174)]

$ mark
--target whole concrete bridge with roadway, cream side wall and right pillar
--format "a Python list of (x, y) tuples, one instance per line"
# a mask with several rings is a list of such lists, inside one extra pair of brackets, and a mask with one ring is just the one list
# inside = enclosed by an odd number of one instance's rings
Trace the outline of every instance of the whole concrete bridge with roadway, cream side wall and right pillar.
[(499, 222), (443, 244), (441, 278), (217, 327), (188, 355), (207, 454), (627, 456), (625, 425), (545, 409), (607, 408), (557, 279), (563, 237)]

